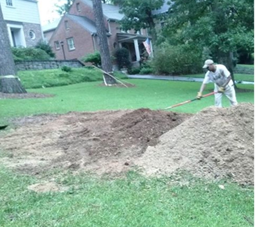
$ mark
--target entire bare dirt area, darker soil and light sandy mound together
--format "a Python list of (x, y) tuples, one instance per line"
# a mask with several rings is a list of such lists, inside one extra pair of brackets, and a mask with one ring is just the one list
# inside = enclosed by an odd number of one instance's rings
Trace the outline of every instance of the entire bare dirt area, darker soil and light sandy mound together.
[[(144, 174), (188, 170), (253, 184), (254, 105), (196, 115), (150, 109), (16, 118), (0, 134), (0, 161), (40, 174), (64, 168), (97, 174), (139, 167)], [(8, 129), (8, 128), (7, 128)]]

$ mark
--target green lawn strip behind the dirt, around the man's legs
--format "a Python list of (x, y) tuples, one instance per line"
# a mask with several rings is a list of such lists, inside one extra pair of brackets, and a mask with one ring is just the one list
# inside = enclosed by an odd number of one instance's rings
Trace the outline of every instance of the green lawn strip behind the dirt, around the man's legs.
[[(135, 87), (105, 87), (102, 82), (87, 82), (63, 87), (27, 89), (33, 93), (53, 94), (50, 98), (27, 98), (0, 100), (0, 119), (39, 113), (65, 113), (68, 111), (96, 111), (118, 109), (163, 109), (195, 98), (199, 90), (198, 82), (163, 80), (128, 80)], [(239, 84), (239, 88), (251, 89), (253, 85)], [(204, 94), (213, 90), (210, 83)], [(238, 102), (254, 102), (254, 93), (238, 93)], [(172, 111), (196, 113), (214, 104), (214, 97), (182, 105)], [(223, 97), (224, 107), (229, 106)]]

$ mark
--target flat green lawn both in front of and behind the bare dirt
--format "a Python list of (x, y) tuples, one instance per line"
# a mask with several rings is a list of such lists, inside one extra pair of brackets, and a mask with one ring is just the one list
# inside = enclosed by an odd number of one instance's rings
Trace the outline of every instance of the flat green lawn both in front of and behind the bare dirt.
[[(8, 123), (9, 117), (39, 113), (137, 108), (157, 110), (195, 98), (200, 87), (198, 82), (127, 81), (135, 86), (105, 87), (96, 81), (27, 89), (32, 93), (53, 94), (54, 97), (2, 99), (0, 121)], [(238, 102), (254, 103), (254, 86), (238, 84), (238, 87), (251, 91), (237, 93)], [(205, 94), (212, 89), (211, 83)], [(229, 107), (225, 97), (223, 101), (224, 106)], [(213, 103), (214, 97), (209, 96), (169, 111), (196, 113)], [(0, 156), (6, 155), (0, 146)], [(179, 178), (186, 183), (180, 185)], [(36, 193), (27, 189), (33, 183), (49, 180), (68, 187), (68, 190)], [(254, 188), (226, 180), (200, 180), (189, 173), (157, 179), (146, 178), (133, 171), (115, 177), (97, 177), (54, 169), (37, 178), (2, 166), (0, 204), (1, 227), (243, 227), (253, 226)]]

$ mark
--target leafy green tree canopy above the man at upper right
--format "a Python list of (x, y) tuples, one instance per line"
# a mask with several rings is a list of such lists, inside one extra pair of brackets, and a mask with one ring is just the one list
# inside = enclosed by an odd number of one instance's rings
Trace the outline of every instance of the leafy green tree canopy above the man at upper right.
[(171, 44), (208, 47), (216, 58), (253, 52), (253, 0), (176, 0), (162, 37)]

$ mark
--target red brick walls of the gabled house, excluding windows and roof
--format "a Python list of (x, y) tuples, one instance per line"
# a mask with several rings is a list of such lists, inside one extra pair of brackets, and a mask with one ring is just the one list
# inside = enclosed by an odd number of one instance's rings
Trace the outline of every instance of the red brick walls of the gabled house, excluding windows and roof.
[[(80, 11), (77, 10), (77, 3), (79, 3), (80, 5)], [(84, 4), (84, 2), (81, 2), (79, 0), (74, 1), (68, 13), (71, 15), (86, 16), (87, 18), (94, 21), (93, 9), (91, 8), (91, 6), (88, 6)], [(65, 20), (68, 21), (68, 24), (70, 26), (69, 30), (65, 29)], [(114, 55), (115, 50), (119, 48), (116, 36), (116, 33), (121, 32), (119, 24), (113, 21), (107, 22), (105, 18), (105, 26), (107, 30), (110, 29), (110, 33), (112, 34), (110, 37), (108, 37), (108, 44), (110, 55)], [(130, 31), (130, 33), (134, 34), (134, 31)], [(145, 36), (146, 34), (146, 30), (143, 30), (143, 35)], [(73, 37), (75, 45), (75, 49), (73, 51), (69, 51), (67, 46), (67, 39), (71, 37)], [(61, 19), (58, 29), (53, 34), (50, 40), (50, 45), (52, 46), (53, 51), (56, 53), (56, 58), (64, 59), (61, 47), (59, 50), (56, 50), (54, 46), (54, 41), (57, 40), (64, 41), (64, 51), (67, 60), (81, 58), (88, 53), (94, 53), (94, 51), (99, 50), (98, 40), (96, 39), (96, 37), (92, 37), (92, 35), (88, 31), (86, 31), (79, 24), (74, 23), (73, 20), (69, 19), (66, 16)]]

